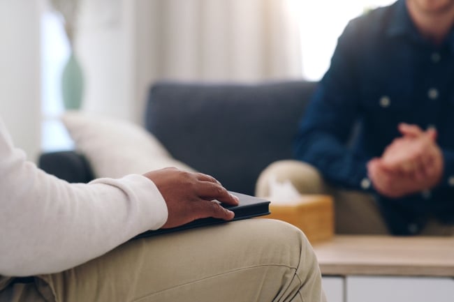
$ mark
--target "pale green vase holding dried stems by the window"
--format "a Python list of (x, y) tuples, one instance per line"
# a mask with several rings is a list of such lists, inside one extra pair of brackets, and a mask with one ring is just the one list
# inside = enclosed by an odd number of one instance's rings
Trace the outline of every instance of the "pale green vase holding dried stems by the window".
[(71, 51), (66, 62), (63, 75), (61, 75), (61, 91), (65, 109), (79, 110), (82, 106), (84, 94), (84, 77), (80, 63), (73, 51)]

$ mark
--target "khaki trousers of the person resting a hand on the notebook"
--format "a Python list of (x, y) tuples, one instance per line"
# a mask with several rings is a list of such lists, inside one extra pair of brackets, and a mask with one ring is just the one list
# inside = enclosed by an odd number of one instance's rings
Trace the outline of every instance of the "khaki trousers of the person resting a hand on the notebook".
[(286, 222), (250, 219), (129, 241), (74, 269), (6, 285), (0, 301), (312, 302), (325, 296), (305, 235)]

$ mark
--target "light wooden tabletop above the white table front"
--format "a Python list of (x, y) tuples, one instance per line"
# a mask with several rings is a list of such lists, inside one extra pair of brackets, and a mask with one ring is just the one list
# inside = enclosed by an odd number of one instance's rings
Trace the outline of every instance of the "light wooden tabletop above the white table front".
[(314, 250), (325, 275), (454, 277), (454, 237), (337, 235)]

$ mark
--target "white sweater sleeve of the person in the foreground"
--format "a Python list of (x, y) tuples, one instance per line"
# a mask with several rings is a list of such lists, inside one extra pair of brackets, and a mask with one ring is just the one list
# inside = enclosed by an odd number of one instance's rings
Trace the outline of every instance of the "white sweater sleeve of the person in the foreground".
[(167, 220), (142, 175), (70, 184), (13, 148), (0, 120), (0, 275), (55, 273), (112, 250)]

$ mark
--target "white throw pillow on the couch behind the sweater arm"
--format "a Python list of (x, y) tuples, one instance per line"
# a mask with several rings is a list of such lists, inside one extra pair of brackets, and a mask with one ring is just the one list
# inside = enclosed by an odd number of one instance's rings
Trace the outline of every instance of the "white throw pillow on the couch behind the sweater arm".
[(153, 135), (136, 123), (82, 111), (65, 112), (61, 121), (94, 177), (120, 178), (164, 167), (194, 171), (173, 159)]

